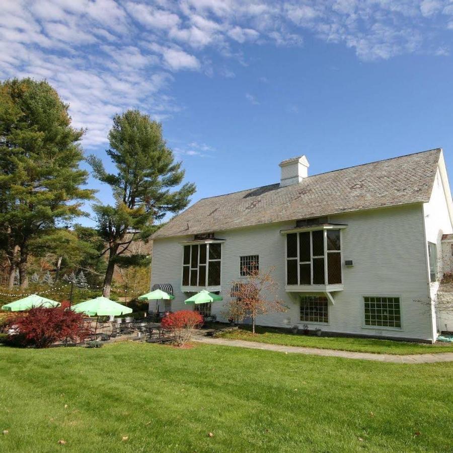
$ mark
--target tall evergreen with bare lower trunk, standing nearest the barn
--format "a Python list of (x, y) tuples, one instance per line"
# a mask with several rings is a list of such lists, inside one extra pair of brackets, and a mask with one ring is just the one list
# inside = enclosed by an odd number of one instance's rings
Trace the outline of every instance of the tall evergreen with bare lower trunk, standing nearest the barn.
[(113, 119), (109, 132), (110, 149), (116, 173), (107, 173), (100, 159), (91, 156), (90, 164), (100, 181), (110, 185), (115, 205), (95, 205), (98, 231), (107, 244), (108, 265), (104, 296), (109, 297), (115, 264), (146, 266), (149, 258), (131, 254), (133, 241), (147, 241), (156, 231), (156, 220), (166, 213), (184, 209), (195, 192), (192, 183), (181, 184), (184, 170), (162, 137), (162, 125), (128, 110)]

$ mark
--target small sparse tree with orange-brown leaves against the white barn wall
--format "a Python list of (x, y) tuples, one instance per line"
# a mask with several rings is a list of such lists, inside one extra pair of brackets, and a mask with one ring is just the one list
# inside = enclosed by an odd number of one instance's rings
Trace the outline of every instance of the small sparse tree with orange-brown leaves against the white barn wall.
[(232, 282), (232, 299), (225, 314), (238, 321), (250, 316), (253, 333), (258, 315), (285, 312), (288, 309), (278, 298), (278, 282), (271, 275), (274, 269), (271, 267), (264, 272), (256, 269), (256, 266), (244, 268), (245, 279)]

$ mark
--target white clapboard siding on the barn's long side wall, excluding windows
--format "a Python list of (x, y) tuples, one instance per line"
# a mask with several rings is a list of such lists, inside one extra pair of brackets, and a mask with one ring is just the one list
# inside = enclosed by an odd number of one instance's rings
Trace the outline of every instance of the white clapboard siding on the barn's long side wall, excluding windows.
[[(342, 231), (343, 263), (354, 260), (353, 267), (343, 267), (344, 290), (332, 293), (335, 305), (329, 304), (329, 323), (325, 331), (346, 334), (383, 335), (431, 340), (432, 327), (427, 304), (429, 283), (421, 204), (382, 208), (331, 216), (335, 223), (346, 223)], [(240, 256), (259, 255), (260, 269), (275, 266), (274, 278), (280, 284), (279, 297), (289, 307), (286, 313), (260, 316), (257, 324), (289, 327), (299, 321), (298, 294), (285, 292), (285, 237), (280, 230), (295, 222), (216, 231), (224, 239), (221, 261), (223, 303), (213, 304), (212, 313), (221, 312), (230, 300), (231, 282), (240, 278)], [(152, 283), (171, 283), (175, 292), (172, 310), (190, 309), (184, 305), (188, 293), (182, 293), (182, 242), (190, 236), (157, 239), (153, 245)], [(402, 329), (365, 328), (363, 296), (398, 296), (401, 298)], [(318, 327), (307, 323), (310, 328)]]

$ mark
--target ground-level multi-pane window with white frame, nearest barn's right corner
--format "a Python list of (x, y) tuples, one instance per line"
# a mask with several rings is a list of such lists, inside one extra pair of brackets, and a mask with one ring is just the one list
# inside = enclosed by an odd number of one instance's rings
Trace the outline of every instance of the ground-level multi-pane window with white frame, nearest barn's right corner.
[(401, 327), (399, 297), (363, 297), (365, 326)]

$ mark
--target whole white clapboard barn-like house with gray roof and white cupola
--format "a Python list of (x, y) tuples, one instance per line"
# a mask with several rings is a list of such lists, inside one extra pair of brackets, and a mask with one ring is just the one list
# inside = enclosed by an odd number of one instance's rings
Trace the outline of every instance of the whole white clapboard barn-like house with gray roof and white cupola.
[[(161, 310), (224, 320), (232, 282), (273, 266), (288, 310), (258, 325), (426, 341), (453, 330), (435, 305), (453, 254), (441, 149), (313, 176), (305, 156), (279, 165), (279, 183), (204, 198), (154, 235), (152, 288), (175, 296)], [(201, 289), (224, 302), (184, 305)]]

